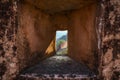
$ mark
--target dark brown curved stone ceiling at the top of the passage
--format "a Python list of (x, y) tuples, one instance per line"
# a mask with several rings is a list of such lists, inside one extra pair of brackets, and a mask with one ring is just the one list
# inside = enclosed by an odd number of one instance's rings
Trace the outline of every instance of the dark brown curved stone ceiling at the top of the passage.
[(96, 0), (26, 0), (26, 1), (48, 13), (75, 10), (96, 2)]

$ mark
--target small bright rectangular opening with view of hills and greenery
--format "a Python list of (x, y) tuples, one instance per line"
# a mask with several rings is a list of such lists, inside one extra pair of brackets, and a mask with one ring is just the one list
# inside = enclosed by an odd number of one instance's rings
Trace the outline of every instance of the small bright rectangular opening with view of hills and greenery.
[(56, 31), (56, 54), (66, 55), (68, 53), (68, 31)]

